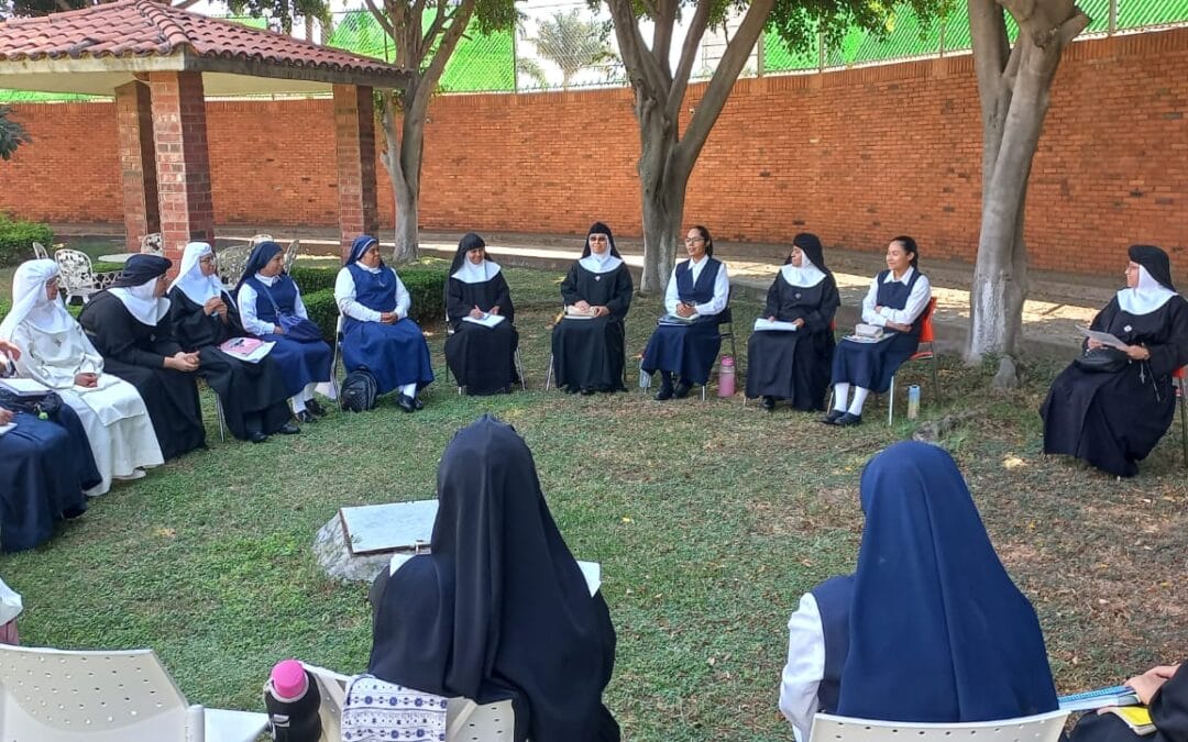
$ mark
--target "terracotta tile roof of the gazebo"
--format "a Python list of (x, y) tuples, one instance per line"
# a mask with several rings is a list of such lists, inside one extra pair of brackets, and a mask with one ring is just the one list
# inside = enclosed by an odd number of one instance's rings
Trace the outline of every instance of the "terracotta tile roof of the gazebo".
[(391, 75), (390, 64), (208, 18), (154, 0), (120, 0), (0, 23), (0, 61), (84, 57), (198, 57)]

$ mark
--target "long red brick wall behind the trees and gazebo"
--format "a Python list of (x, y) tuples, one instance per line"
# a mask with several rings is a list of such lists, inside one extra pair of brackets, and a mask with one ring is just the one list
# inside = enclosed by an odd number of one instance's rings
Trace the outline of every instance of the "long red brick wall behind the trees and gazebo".
[[(696, 104), (694, 89), (687, 109)], [(428, 228), (638, 235), (630, 90), (438, 97), (422, 185)], [(329, 100), (208, 104), (220, 223), (337, 223)], [(0, 164), (0, 209), (122, 221), (107, 104), (20, 106), (36, 141)], [(1032, 265), (1117, 274), (1126, 245), (1188, 265), (1188, 28), (1074, 44), (1051, 96), (1028, 201)], [(969, 57), (740, 81), (689, 188), (685, 218), (725, 239), (972, 260), (981, 132)], [(386, 171), (380, 220), (392, 224)]]

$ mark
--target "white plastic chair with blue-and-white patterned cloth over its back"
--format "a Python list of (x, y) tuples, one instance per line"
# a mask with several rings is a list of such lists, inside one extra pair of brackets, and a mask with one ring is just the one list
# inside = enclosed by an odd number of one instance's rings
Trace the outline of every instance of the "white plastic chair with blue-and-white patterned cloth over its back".
[[(340, 719), (349, 677), (324, 667), (304, 665), (317, 679), (322, 696), (322, 736), (318, 742), (339, 742), (342, 736)], [(446, 706), (446, 742), (510, 741), (516, 734), (516, 712), (512, 702), (499, 700), (479, 705), (468, 698), (450, 698)], [(952, 741), (949, 741), (952, 742)]]

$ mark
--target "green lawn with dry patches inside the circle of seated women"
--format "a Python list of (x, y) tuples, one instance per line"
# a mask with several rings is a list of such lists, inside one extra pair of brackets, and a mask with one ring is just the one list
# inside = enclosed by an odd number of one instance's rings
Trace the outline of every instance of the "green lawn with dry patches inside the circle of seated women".
[[(0, 557), (25, 598), (21, 639), (61, 647), (153, 647), (191, 700), (260, 708), (274, 661), (345, 672), (371, 646), (365, 584), (328, 581), (314, 533), (345, 505), (430, 497), (451, 435), (484, 412), (532, 449), (573, 552), (604, 565), (619, 632), (608, 705), (627, 740), (789, 740), (776, 709), (785, 623), (800, 594), (853, 566), (858, 477), (914, 424), (860, 429), (766, 414), (741, 398), (655, 402), (632, 369), (627, 394), (542, 391), (557, 274), (507, 271), (531, 389), (460, 398), (438, 380), (423, 412), (390, 399), (331, 413), (295, 438), (220, 443), (93, 501), (32, 552)], [(738, 303), (741, 335), (758, 306)], [(628, 347), (658, 302), (637, 299)], [(441, 328), (431, 334), (441, 369)], [(1035, 602), (1062, 691), (1114, 681), (1188, 654), (1183, 534), (1188, 488), (1169, 436), (1142, 476), (1116, 482), (1040, 455), (1036, 410), (1054, 366), (996, 395), (990, 375), (942, 361), (943, 404), (924, 367), (925, 419), (972, 412), (942, 439), (991, 537)]]

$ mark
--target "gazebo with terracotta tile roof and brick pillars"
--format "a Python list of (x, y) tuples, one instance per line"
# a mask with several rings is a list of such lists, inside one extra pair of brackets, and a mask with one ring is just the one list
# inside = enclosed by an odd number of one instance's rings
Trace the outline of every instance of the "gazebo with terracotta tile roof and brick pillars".
[(213, 242), (206, 97), (331, 93), (342, 248), (379, 227), (372, 90), (406, 72), (375, 59), (120, 0), (0, 23), (0, 88), (114, 95), (127, 245), (159, 232), (165, 255)]

